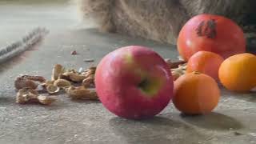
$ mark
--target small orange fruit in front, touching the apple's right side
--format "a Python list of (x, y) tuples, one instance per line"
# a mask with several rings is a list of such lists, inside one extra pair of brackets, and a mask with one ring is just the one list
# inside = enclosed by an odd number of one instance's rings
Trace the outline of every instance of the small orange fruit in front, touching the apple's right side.
[(219, 98), (217, 82), (206, 74), (184, 74), (174, 82), (173, 103), (183, 114), (209, 114)]

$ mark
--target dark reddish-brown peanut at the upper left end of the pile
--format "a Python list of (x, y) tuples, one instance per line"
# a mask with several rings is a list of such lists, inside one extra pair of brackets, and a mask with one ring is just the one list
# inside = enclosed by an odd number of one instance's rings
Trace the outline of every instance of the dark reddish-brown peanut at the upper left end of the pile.
[(18, 77), (14, 81), (14, 86), (17, 90), (20, 90), (23, 88), (36, 89), (38, 87), (38, 84), (29, 79)]

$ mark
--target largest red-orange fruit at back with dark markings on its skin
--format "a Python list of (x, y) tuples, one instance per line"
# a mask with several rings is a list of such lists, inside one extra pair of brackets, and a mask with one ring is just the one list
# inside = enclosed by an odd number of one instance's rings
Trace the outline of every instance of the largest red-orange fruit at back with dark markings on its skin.
[(229, 18), (214, 14), (198, 14), (190, 18), (178, 34), (178, 52), (185, 61), (200, 50), (228, 58), (246, 52), (242, 28)]

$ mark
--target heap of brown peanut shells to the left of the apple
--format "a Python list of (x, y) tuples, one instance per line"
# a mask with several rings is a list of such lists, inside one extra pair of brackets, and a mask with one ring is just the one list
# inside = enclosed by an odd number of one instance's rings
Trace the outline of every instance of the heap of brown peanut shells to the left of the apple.
[[(25, 104), (27, 102), (38, 102), (43, 105), (50, 105), (56, 101), (55, 98), (50, 98), (45, 95), (38, 94), (38, 83), (44, 92), (49, 94), (58, 93), (61, 88), (66, 90), (66, 93), (72, 99), (89, 99), (98, 100), (95, 90), (86, 89), (87, 86), (94, 84), (94, 74), (96, 66), (91, 66), (87, 70), (79, 72), (76, 70), (65, 71), (62, 65), (55, 65), (52, 70), (51, 80), (47, 81), (41, 76), (22, 75), (16, 78), (14, 85), (18, 89), (16, 102)], [(74, 87), (71, 82), (82, 82), (82, 86)], [(45, 91), (46, 90), (46, 91)]]

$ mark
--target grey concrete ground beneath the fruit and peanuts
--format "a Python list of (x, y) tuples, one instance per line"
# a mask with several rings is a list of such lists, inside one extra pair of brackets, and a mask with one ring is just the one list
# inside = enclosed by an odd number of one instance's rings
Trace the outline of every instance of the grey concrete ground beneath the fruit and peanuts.
[[(74, 102), (65, 94), (52, 106), (16, 104), (14, 79), (18, 74), (50, 78), (56, 63), (86, 68), (128, 45), (150, 46), (163, 58), (178, 56), (175, 46), (82, 28), (72, 10), (63, 3), (0, 1), (0, 47), (34, 26), (50, 30), (33, 50), (0, 66), (0, 143), (256, 143), (256, 94), (222, 90), (218, 107), (206, 116), (183, 116), (170, 102), (157, 117), (144, 121), (118, 118), (100, 102)], [(71, 55), (73, 50), (78, 55)], [(88, 58), (95, 62), (83, 62)]]

